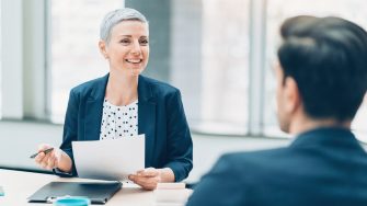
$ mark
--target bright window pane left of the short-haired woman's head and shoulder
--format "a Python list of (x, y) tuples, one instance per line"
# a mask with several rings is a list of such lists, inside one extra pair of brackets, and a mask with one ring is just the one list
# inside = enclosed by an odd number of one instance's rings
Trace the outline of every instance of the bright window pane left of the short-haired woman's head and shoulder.
[(123, 0), (51, 1), (51, 121), (62, 123), (71, 88), (108, 72), (98, 41), (104, 14)]

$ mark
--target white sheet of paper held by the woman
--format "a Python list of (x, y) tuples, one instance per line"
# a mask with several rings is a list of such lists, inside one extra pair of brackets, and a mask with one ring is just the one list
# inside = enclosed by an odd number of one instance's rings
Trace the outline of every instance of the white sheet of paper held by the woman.
[(145, 168), (145, 135), (95, 141), (72, 141), (79, 178), (127, 180)]

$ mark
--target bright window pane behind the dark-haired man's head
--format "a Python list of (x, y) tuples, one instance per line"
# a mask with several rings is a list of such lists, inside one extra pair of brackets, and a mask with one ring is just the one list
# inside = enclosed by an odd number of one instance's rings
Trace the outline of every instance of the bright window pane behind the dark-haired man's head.
[[(276, 122), (275, 111), (275, 77), (271, 69), (272, 61), (275, 59), (276, 47), (279, 44), (278, 28), (282, 22), (289, 16), (310, 14), (317, 16), (336, 15), (354, 21), (367, 28), (367, 8), (365, 0), (269, 0), (267, 4), (267, 33), (266, 33), (266, 87), (265, 87), (265, 104), (264, 129), (268, 136), (283, 134), (279, 131)], [(358, 133), (367, 134), (367, 101), (360, 107), (353, 128)], [(364, 135), (358, 138), (365, 139)]]

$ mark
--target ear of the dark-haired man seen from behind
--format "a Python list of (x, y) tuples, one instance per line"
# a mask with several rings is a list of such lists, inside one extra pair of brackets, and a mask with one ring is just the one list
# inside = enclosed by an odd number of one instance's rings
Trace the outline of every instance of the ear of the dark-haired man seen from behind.
[(297, 82), (291, 77), (286, 77), (284, 84), (284, 94), (286, 98), (285, 110), (288, 113), (295, 113), (301, 105), (301, 96)]

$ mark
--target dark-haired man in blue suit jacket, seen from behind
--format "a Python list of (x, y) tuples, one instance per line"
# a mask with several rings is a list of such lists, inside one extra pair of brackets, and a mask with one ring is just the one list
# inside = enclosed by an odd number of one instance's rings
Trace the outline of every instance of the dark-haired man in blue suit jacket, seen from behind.
[(222, 156), (188, 206), (366, 206), (367, 154), (351, 133), (367, 89), (367, 33), (339, 18), (280, 28), (277, 110), (287, 148)]

